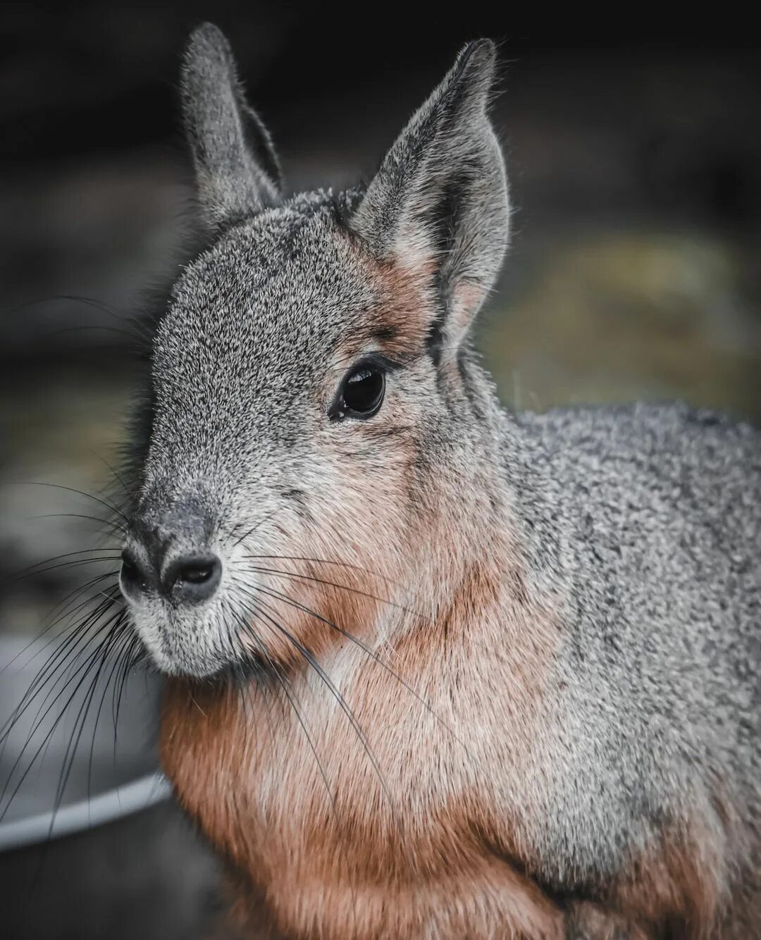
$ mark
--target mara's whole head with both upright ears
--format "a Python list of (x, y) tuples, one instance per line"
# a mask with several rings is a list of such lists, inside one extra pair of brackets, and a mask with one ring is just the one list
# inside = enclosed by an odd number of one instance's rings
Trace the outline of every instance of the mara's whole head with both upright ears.
[(194, 33), (206, 247), (153, 337), (121, 573), (165, 671), (284, 666), (341, 630), (371, 643), (374, 598), (426, 567), (488, 420), (469, 331), (508, 231), (494, 62), (467, 46), (365, 188), (284, 196), (225, 38)]

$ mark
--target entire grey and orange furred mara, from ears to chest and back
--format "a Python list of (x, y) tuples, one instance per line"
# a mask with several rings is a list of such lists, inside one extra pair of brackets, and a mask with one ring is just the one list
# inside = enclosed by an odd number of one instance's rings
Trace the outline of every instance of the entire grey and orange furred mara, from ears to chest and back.
[[(191, 39), (209, 244), (156, 329), (126, 545), (164, 767), (246, 935), (751, 937), (761, 440), (499, 407), (469, 338), (508, 234), (494, 62), (467, 46), (365, 191), (286, 197), (224, 37)], [(213, 594), (162, 593), (201, 550)]]

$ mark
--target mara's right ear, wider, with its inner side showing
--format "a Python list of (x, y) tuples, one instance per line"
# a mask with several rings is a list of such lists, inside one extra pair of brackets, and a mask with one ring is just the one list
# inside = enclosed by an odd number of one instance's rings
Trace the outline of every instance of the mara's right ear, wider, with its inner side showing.
[(505, 163), (487, 109), (496, 50), (467, 45), (381, 164), (350, 220), (382, 259), (428, 271), (442, 301), (432, 339), (456, 347), (505, 254)]

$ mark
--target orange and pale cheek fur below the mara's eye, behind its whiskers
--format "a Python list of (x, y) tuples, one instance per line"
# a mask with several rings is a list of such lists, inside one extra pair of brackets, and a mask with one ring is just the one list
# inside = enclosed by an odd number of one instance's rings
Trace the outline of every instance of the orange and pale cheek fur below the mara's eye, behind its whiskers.
[(282, 529), (273, 557), (252, 561), (245, 575), (251, 631), (241, 642), (272, 664), (309, 665), (353, 637), (372, 643), (383, 613), (404, 600), (407, 461), (371, 472), (346, 454), (339, 465), (305, 497), (298, 524)]

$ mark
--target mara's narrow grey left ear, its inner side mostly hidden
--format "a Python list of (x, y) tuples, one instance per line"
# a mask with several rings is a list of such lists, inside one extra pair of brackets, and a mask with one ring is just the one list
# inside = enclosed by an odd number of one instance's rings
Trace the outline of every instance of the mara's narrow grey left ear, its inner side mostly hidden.
[(275, 204), (282, 180), (270, 134), (246, 102), (229, 43), (213, 24), (191, 35), (180, 98), (208, 226), (213, 230)]

